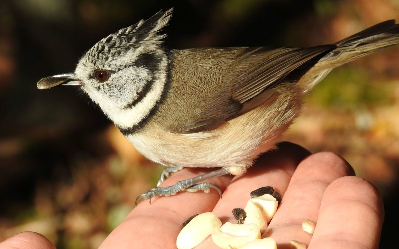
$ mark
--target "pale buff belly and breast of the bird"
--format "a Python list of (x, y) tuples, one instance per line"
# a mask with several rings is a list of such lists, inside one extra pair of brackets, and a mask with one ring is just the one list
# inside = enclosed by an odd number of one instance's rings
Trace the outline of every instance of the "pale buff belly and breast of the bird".
[(258, 107), (208, 132), (172, 134), (154, 127), (127, 138), (145, 157), (166, 166), (226, 167), (240, 175), (280, 141), (300, 108), (287, 106)]

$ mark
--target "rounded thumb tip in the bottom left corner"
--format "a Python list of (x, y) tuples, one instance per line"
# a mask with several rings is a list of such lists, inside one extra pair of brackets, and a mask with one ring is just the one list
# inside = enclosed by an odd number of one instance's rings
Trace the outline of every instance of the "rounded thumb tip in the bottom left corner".
[(41, 234), (22, 232), (1, 242), (0, 249), (55, 249), (55, 246)]

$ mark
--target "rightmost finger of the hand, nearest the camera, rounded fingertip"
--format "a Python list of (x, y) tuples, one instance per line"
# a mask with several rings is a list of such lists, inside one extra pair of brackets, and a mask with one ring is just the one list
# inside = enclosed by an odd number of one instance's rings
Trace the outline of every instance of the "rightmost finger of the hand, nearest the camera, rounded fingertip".
[(309, 248), (378, 248), (384, 208), (378, 190), (357, 177), (328, 186)]

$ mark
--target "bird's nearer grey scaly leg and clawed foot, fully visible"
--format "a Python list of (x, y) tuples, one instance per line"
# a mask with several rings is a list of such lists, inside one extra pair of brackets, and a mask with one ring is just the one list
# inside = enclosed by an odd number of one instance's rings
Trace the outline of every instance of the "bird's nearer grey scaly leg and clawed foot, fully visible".
[(211, 183), (202, 183), (202, 181), (222, 176), (222, 175), (227, 175), (230, 173), (230, 170), (227, 168), (221, 168), (217, 169), (214, 171), (211, 171), (209, 173), (199, 175), (193, 178), (185, 179), (178, 181), (175, 185), (168, 186), (168, 187), (156, 187), (153, 189), (150, 189), (144, 194), (141, 194), (139, 197), (136, 199), (136, 205), (140, 200), (145, 200), (149, 199), (151, 203), (151, 198), (156, 197), (156, 196), (170, 196), (170, 195), (175, 195), (176, 193), (180, 191), (188, 191), (188, 192), (196, 192), (198, 190), (202, 190), (205, 193), (209, 193), (210, 188), (214, 188), (219, 192), (220, 197), (221, 197), (221, 191), (220, 188), (214, 184)]

